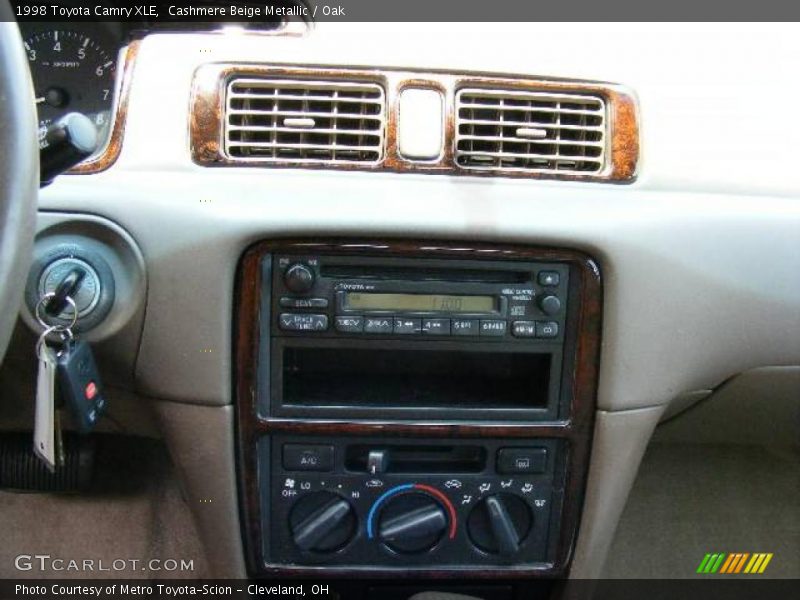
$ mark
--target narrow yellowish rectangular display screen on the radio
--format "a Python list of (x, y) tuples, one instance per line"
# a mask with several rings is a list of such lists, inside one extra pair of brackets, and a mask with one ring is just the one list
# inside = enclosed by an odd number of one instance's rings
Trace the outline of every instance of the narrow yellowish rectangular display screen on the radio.
[(490, 313), (496, 310), (497, 301), (494, 296), (348, 292), (344, 306), (349, 310)]

